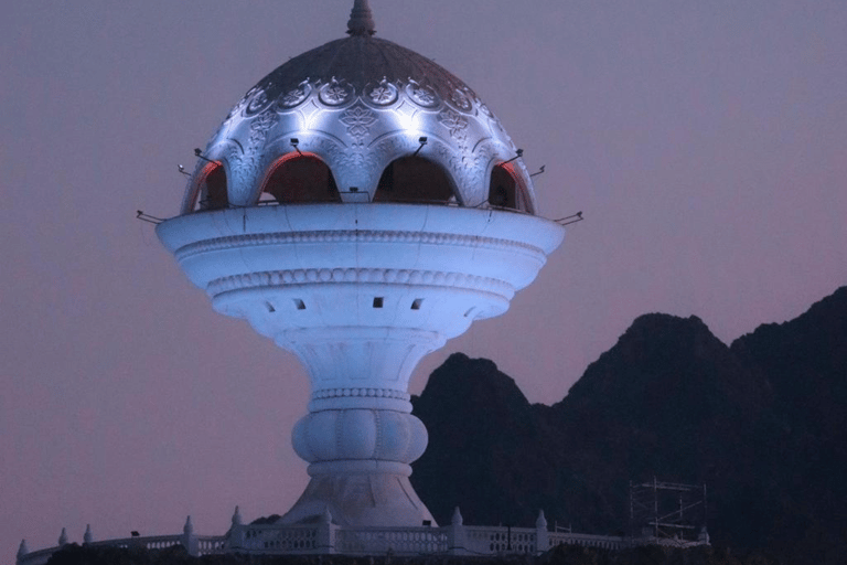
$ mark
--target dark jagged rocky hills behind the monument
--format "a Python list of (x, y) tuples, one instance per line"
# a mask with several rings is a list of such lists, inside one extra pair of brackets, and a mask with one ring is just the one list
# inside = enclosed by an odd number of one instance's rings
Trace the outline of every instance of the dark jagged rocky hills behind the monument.
[(452, 355), (415, 413), (412, 483), (439, 522), (626, 531), (629, 481), (705, 482), (712, 542), (847, 563), (847, 288), (721, 343), (696, 317), (637, 318), (553, 406)]

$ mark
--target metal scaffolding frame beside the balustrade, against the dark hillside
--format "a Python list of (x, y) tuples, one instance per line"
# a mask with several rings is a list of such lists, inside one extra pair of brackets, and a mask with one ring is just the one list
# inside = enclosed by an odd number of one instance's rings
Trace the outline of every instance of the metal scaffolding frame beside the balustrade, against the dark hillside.
[(706, 484), (630, 481), (630, 535), (694, 542), (706, 534)]

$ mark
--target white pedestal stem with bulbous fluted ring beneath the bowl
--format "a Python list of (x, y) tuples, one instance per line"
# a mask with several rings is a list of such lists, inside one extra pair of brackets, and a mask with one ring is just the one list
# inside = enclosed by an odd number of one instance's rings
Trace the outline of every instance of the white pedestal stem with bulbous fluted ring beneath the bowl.
[(312, 479), (283, 522), (311, 521), (326, 509), (341, 525), (435, 523), (409, 483), (427, 429), (406, 390), (419, 359), (443, 339), (346, 327), (287, 332), (277, 343), (298, 354), (312, 380), (309, 414), (292, 434)]

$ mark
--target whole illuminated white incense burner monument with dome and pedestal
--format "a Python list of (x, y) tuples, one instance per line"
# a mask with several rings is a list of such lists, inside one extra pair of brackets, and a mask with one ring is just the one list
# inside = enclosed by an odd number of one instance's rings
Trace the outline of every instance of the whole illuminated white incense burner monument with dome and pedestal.
[(157, 234), (215, 311), (311, 380), (293, 447), (311, 481), (283, 523), (433, 523), (409, 463), (418, 361), (505, 312), (562, 241), (500, 120), (461, 79), (374, 36), (293, 57), (226, 116)]

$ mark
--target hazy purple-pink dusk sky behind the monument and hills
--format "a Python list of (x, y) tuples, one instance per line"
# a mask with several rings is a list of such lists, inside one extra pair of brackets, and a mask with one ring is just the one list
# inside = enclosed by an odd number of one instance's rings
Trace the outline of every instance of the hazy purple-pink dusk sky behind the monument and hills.
[[(86, 523), (103, 540), (192, 514), (222, 534), (236, 504), (254, 520), (302, 492), (299, 362), (214, 313), (135, 213), (176, 214), (178, 164), (262, 76), (343, 36), (352, 4), (4, 7), (0, 563)], [(847, 284), (847, 2), (371, 7), (379, 38), (461, 77), (546, 166), (543, 215), (587, 218), (412, 392), (463, 351), (551, 404), (642, 313), (729, 343)]]

